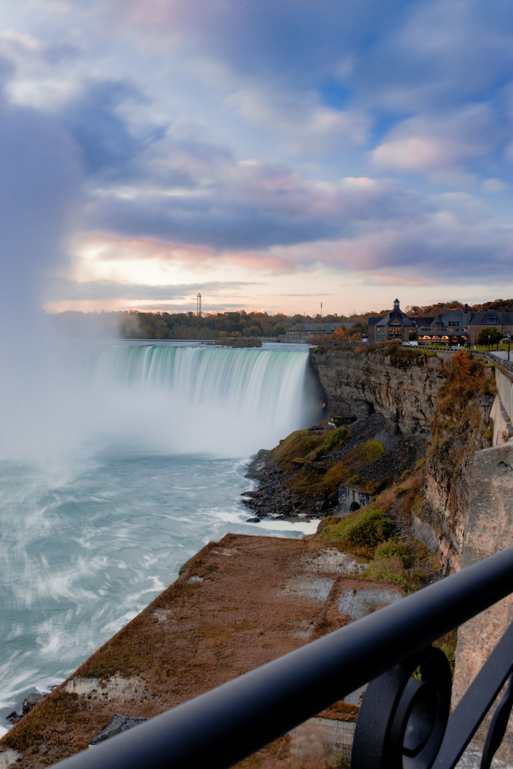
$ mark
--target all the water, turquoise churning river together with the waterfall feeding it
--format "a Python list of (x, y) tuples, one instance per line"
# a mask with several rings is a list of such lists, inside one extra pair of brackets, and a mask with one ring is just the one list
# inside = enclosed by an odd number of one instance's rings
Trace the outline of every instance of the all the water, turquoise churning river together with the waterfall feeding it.
[[(0, 734), (228, 531), (249, 457), (315, 422), (308, 349), (75, 345), (0, 438)], [(32, 383), (34, 384), (34, 383)], [(37, 384), (37, 383), (36, 383)], [(25, 408), (26, 406), (26, 408)]]

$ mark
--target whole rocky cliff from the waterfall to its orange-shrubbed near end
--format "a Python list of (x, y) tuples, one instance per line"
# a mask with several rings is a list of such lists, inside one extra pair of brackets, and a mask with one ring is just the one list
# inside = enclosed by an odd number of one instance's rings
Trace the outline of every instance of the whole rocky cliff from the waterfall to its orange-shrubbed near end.
[(445, 571), (458, 571), (474, 453), (491, 445), (493, 373), (463, 353), (445, 367), (439, 358), (403, 355), (316, 348), (311, 363), (330, 415), (377, 411), (405, 433), (432, 431), (414, 535), (438, 549)]

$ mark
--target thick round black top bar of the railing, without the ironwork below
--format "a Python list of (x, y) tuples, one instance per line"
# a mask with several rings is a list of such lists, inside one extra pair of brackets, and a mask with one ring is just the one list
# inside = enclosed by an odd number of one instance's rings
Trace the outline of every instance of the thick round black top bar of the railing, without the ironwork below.
[[(513, 547), (188, 701), (62, 769), (230, 767), (513, 591)], [(364, 698), (365, 700), (365, 698)], [(470, 737), (468, 738), (470, 739)]]

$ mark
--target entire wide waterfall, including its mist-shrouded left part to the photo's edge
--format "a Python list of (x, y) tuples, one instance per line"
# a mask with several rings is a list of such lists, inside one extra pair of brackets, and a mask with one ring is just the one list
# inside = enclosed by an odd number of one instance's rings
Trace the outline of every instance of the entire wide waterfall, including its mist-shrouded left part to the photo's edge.
[(1, 400), (0, 459), (116, 451), (248, 457), (320, 418), (305, 348), (55, 346)]

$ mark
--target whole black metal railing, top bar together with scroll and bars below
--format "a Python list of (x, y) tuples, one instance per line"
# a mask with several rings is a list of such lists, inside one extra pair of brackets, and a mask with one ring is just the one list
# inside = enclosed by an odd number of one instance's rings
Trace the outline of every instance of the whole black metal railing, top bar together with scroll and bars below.
[[(58, 764), (62, 769), (231, 767), (371, 681), (354, 769), (451, 769), (513, 668), (513, 626), (449, 717), (451, 677), (430, 644), (513, 591), (513, 547)], [(421, 680), (411, 677), (420, 668)], [(484, 763), (500, 744), (511, 685)]]

